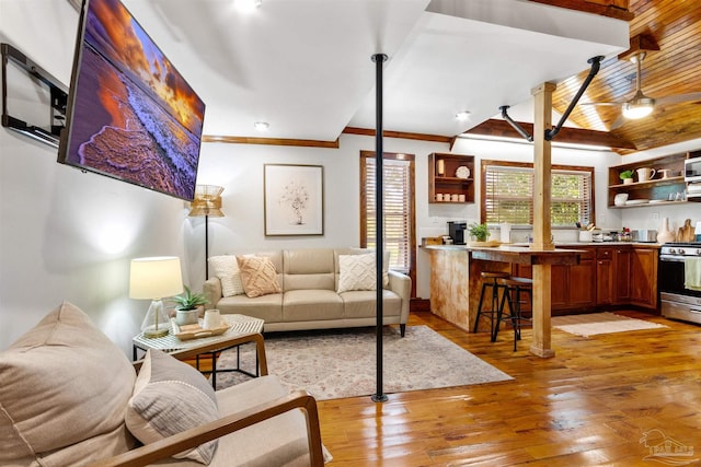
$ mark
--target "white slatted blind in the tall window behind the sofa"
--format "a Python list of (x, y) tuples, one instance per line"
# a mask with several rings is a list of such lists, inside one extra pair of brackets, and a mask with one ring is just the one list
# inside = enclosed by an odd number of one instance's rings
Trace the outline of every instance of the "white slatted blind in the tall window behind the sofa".
[[(376, 248), (376, 183), (374, 157), (365, 159), (365, 245)], [(409, 273), (411, 268), (411, 161), (384, 159), (384, 250), (390, 254), (390, 268)]]

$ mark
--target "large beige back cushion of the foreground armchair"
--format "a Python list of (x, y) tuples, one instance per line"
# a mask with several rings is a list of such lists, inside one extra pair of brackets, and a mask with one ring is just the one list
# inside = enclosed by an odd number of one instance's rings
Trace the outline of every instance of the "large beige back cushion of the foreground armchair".
[(85, 465), (134, 447), (124, 413), (136, 372), (64, 302), (0, 352), (0, 465)]

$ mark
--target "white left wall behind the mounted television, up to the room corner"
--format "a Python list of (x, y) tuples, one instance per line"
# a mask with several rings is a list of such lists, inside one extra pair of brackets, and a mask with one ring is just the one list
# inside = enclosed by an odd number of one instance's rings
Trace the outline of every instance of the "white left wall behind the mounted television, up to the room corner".
[[(0, 40), (68, 85), (73, 8), (0, 0)], [(129, 260), (184, 256), (183, 202), (60, 165), (56, 149), (7, 128), (0, 150), (0, 349), (68, 300), (130, 354), (148, 301), (127, 296)]]

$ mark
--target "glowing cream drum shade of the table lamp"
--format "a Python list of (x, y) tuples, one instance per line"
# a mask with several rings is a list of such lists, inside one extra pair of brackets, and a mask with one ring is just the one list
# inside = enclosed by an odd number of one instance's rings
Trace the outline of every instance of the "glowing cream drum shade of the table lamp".
[(131, 299), (162, 299), (183, 291), (183, 273), (176, 256), (156, 256), (131, 260), (129, 296)]

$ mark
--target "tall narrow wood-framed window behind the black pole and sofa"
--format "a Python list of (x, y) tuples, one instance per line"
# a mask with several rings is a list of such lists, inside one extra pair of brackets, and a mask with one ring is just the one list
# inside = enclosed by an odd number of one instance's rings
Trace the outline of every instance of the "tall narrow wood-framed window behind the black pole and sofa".
[[(375, 152), (360, 152), (360, 246), (376, 247)], [(412, 277), (415, 283), (414, 155), (384, 153), (384, 250), (390, 268)]]

